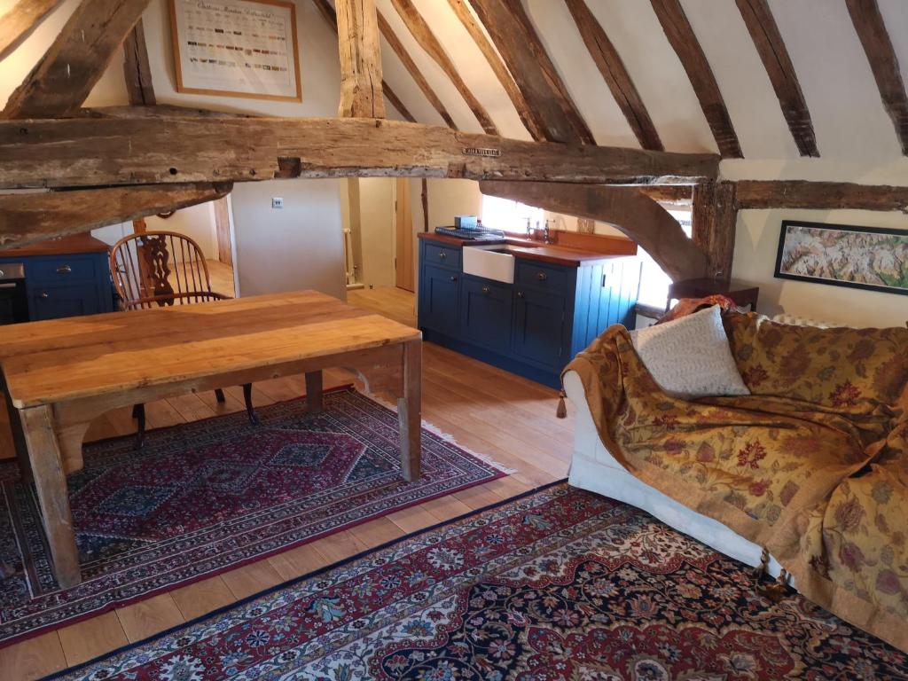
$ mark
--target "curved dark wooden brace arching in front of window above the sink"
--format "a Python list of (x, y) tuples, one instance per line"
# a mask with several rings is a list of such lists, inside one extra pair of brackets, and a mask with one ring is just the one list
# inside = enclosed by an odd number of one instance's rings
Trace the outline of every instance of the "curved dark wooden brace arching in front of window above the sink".
[(632, 187), (481, 182), (479, 191), (547, 211), (608, 222), (640, 244), (673, 281), (706, 276), (706, 255), (666, 209)]

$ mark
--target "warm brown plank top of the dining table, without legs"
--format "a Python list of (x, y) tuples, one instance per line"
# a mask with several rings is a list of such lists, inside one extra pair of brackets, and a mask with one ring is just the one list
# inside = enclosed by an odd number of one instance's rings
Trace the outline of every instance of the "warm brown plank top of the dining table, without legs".
[(3, 327), (17, 409), (419, 340), (317, 291)]

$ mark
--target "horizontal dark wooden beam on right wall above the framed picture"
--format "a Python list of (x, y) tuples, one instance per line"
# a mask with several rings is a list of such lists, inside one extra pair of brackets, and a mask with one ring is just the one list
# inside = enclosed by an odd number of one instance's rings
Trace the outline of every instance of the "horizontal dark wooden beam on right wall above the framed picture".
[(850, 208), (908, 213), (908, 186), (804, 180), (741, 180), (737, 185), (736, 200), (741, 209), (804, 208), (828, 211)]

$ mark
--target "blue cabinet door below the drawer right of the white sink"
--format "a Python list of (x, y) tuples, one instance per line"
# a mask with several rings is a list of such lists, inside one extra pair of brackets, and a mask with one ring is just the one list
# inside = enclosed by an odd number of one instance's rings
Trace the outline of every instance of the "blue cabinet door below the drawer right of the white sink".
[(514, 301), (514, 354), (547, 369), (560, 369), (567, 304), (564, 296), (518, 289)]

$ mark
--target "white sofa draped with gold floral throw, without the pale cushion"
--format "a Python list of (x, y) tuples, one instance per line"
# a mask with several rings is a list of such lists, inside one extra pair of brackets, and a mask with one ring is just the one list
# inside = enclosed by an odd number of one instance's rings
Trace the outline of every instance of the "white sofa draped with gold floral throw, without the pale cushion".
[(748, 565), (763, 557), (908, 650), (908, 329), (722, 322), (749, 395), (666, 393), (620, 326), (568, 364), (570, 484)]

